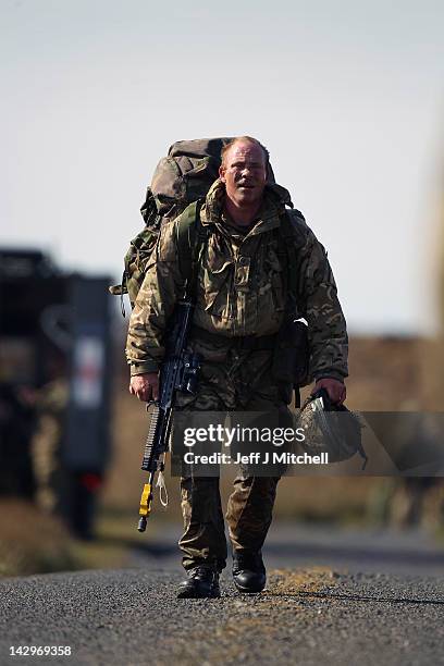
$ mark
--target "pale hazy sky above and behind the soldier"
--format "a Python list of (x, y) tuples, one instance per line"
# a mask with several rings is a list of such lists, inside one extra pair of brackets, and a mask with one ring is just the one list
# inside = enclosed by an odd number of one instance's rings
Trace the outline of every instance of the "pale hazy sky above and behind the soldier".
[(121, 273), (157, 161), (250, 134), (356, 332), (430, 330), (444, 4), (1, 1), (2, 245)]

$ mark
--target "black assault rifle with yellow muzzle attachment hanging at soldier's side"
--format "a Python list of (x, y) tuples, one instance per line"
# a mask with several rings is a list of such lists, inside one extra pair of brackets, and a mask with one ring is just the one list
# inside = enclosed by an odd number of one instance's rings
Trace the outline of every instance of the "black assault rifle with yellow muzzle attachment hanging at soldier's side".
[(196, 354), (185, 351), (193, 312), (194, 304), (190, 299), (180, 300), (166, 332), (165, 359), (160, 369), (159, 399), (150, 403), (155, 407), (141, 462), (141, 469), (149, 472), (149, 480), (141, 492), (137, 526), (139, 532), (145, 532), (151, 513), (156, 472), (163, 472), (164, 469), (176, 392), (196, 393), (199, 358)]

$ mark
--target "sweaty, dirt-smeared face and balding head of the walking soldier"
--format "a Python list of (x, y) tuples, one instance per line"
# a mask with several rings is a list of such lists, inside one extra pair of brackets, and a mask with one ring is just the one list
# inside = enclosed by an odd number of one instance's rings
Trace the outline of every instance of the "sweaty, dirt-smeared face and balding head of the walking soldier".
[(219, 170), (226, 196), (237, 206), (252, 206), (263, 196), (267, 162), (263, 150), (256, 144), (238, 141), (230, 148)]

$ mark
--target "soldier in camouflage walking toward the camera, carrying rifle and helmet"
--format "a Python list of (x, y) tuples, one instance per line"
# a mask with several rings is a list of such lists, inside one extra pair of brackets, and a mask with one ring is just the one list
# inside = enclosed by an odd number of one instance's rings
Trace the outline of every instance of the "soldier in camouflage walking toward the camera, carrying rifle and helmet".
[[(292, 423), (292, 385), (272, 373), (286, 308), (287, 269), (297, 271), (298, 312), (309, 324), (314, 390), (324, 387), (335, 403), (345, 399), (347, 333), (326, 254), (300, 213), (284, 212), (284, 201), (267, 184), (268, 160), (267, 149), (256, 139), (231, 141), (222, 150), (220, 177), (200, 209), (209, 232), (198, 267), (189, 348), (199, 354), (201, 370), (197, 395), (181, 395), (178, 408), (273, 411)], [(289, 215), (303, 240), (296, 267), (282, 266), (283, 214)], [(162, 227), (130, 321), (130, 392), (145, 402), (158, 397), (163, 333), (184, 284), (176, 243), (180, 219)], [(278, 481), (245, 472), (234, 481), (226, 519), (234, 583), (242, 592), (260, 592), (266, 584), (261, 548)], [(219, 596), (226, 559), (219, 479), (183, 478), (181, 492), (185, 532), (178, 545), (187, 579), (178, 596)]]

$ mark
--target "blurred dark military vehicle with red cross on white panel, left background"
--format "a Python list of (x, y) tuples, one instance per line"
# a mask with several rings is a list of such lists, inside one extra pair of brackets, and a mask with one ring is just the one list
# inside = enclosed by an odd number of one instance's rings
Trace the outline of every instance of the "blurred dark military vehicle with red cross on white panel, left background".
[(0, 249), (0, 495), (41, 498), (81, 538), (110, 457), (109, 283)]

